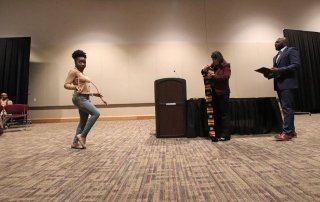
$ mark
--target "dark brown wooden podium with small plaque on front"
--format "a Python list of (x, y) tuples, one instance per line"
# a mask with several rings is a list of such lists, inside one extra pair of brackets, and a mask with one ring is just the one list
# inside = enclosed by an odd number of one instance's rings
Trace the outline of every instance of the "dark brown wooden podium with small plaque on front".
[(154, 82), (156, 136), (183, 137), (186, 132), (186, 80), (164, 78)]

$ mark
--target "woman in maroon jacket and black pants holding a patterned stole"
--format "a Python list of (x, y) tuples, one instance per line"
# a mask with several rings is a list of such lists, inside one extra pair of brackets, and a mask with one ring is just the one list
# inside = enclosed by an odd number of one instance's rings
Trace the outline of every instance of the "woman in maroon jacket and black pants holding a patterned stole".
[[(230, 64), (219, 51), (211, 54), (212, 64), (205, 66), (201, 73), (211, 81), (214, 129), (218, 141), (230, 140), (229, 79)], [(215, 141), (215, 140), (212, 140)]]

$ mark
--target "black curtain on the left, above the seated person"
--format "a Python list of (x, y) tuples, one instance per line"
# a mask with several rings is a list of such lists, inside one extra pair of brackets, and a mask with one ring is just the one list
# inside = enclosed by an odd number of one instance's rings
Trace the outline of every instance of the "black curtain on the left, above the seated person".
[(28, 103), (30, 37), (0, 38), (0, 92), (14, 103)]

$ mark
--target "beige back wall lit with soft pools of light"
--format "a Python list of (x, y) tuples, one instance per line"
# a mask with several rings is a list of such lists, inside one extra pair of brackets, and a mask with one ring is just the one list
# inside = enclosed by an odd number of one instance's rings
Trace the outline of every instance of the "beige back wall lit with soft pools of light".
[(154, 80), (177, 76), (188, 98), (203, 97), (199, 72), (214, 50), (231, 63), (231, 97), (265, 97), (275, 96), (272, 81), (253, 70), (272, 65), (284, 28), (319, 32), (319, 10), (318, 0), (0, 0), (0, 37), (32, 38), (30, 106), (71, 105), (63, 83), (75, 49), (87, 52), (85, 73), (111, 104), (153, 102)]

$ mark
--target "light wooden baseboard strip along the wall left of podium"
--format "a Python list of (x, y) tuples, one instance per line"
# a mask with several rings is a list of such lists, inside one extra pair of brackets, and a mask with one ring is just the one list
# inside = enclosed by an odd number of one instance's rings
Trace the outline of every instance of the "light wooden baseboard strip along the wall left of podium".
[[(128, 116), (100, 116), (98, 121), (128, 121), (128, 120), (148, 120), (155, 119), (155, 115), (128, 115)], [(31, 119), (32, 123), (62, 123), (62, 122), (78, 122), (79, 118), (40, 118)]]

